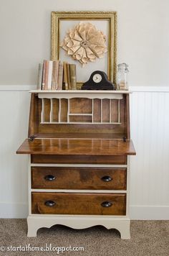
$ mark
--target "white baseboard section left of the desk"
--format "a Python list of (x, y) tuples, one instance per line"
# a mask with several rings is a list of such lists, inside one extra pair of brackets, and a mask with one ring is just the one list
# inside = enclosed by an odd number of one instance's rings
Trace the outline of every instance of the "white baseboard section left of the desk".
[(26, 203), (0, 203), (0, 219), (25, 219), (27, 216)]

